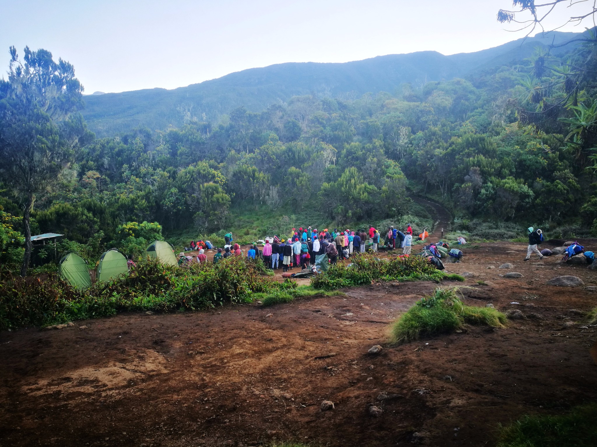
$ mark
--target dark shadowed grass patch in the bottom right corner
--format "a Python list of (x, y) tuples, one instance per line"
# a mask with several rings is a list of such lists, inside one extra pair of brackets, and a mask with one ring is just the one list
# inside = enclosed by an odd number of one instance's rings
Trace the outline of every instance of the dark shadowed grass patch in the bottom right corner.
[(556, 416), (525, 416), (500, 425), (497, 447), (591, 447), (597, 445), (597, 403)]

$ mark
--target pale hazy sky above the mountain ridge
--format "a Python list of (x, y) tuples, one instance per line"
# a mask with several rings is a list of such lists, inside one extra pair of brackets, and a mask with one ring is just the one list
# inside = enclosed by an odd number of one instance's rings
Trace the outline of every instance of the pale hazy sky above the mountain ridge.
[[(511, 6), (511, 0), (0, 0), (0, 73), (10, 45), (20, 55), (29, 45), (69, 61), (87, 94), (170, 89), (283, 62), (471, 52), (524, 36), (496, 21), (497, 10)], [(547, 26), (570, 15), (562, 5)], [(562, 30), (580, 32), (584, 24)]]

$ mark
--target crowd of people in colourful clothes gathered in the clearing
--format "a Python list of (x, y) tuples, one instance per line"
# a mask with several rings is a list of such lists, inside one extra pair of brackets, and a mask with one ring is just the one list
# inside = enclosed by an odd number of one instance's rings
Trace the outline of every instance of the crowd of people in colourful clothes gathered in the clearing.
[[(424, 231), (418, 238), (427, 237), (427, 231)], [(384, 232), (388, 249), (402, 248), (402, 253), (409, 255), (413, 244), (413, 228), (408, 224), (404, 232), (390, 226), (387, 233)], [(288, 237), (266, 237), (262, 242), (262, 250), (254, 243), (247, 250), (247, 257), (251, 259), (263, 259), (264, 264), (270, 269), (282, 268), (284, 272), (290, 269), (310, 268), (315, 265), (316, 257), (327, 254), (330, 263), (336, 263), (338, 258), (348, 259), (353, 253), (365, 253), (368, 248), (377, 252), (381, 243), (380, 232), (372, 225), (369, 229), (358, 229), (351, 231), (346, 229), (339, 231), (334, 228), (330, 231), (328, 228), (319, 231), (317, 228), (307, 226), (307, 228), (293, 228)], [(179, 265), (189, 262), (206, 262), (206, 249), (212, 249), (210, 241), (191, 241), (190, 249), (199, 250), (198, 254), (186, 256), (183, 252), (179, 254)], [(234, 243), (231, 232), (224, 235), (224, 247), (216, 249), (213, 262), (217, 263), (221, 259), (229, 256), (244, 256), (238, 243)]]

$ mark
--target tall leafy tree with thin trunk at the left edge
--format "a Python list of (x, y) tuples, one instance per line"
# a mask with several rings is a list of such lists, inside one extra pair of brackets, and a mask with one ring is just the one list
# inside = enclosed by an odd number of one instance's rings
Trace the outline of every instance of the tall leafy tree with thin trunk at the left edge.
[(11, 46), (10, 55), (8, 80), (0, 80), (0, 175), (23, 201), (24, 276), (35, 195), (56, 181), (73, 159), (73, 148), (91, 135), (75, 114), (82, 107), (83, 87), (71, 64), (54, 62), (45, 49), (26, 47), (21, 61)]

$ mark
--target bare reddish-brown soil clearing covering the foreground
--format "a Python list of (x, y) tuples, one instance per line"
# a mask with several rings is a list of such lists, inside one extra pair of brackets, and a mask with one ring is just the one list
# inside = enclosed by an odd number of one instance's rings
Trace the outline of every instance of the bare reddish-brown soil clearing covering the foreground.
[[(524, 244), (464, 251), (447, 269), (475, 275), (466, 303), (541, 318), (389, 347), (390, 322), (436, 287), (420, 282), (0, 333), (0, 445), (491, 446), (498, 423), (595, 401), (595, 328), (570, 309), (589, 311), (597, 293), (544, 285), (565, 274), (595, 285), (595, 273), (556, 257), (522, 262)], [(524, 278), (498, 276), (504, 262)], [(567, 321), (579, 324), (564, 329)], [(381, 355), (367, 354), (374, 344)], [(378, 401), (381, 392), (399, 397)], [(324, 399), (336, 408), (322, 412)], [(383, 409), (377, 418), (371, 403)]]

